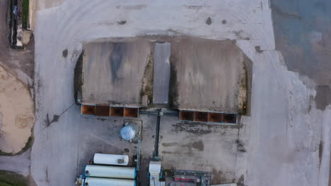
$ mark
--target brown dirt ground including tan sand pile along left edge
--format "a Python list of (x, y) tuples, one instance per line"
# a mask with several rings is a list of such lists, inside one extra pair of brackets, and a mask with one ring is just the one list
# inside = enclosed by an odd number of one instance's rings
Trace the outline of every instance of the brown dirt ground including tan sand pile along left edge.
[(0, 1), (0, 113), (1, 151), (17, 153), (25, 147), (35, 122), (30, 94), (33, 85), (34, 44), (11, 49), (7, 37), (8, 1)]

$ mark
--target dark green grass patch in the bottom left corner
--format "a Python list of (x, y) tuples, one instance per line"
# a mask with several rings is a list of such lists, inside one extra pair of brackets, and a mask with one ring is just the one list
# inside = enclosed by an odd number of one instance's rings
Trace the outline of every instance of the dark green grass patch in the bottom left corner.
[(28, 179), (11, 171), (0, 171), (0, 186), (28, 186)]

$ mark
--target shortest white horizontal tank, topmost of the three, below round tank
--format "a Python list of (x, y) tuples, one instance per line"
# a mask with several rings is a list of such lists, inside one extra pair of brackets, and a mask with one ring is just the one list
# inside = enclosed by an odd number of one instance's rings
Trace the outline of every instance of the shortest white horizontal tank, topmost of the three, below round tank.
[(129, 163), (129, 156), (95, 153), (93, 157), (93, 162), (96, 164), (127, 166), (127, 164)]

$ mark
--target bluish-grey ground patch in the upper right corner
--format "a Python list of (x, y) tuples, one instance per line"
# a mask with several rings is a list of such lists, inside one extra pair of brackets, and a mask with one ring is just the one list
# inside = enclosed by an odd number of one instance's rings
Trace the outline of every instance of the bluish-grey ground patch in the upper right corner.
[(316, 82), (316, 106), (324, 110), (331, 103), (331, 1), (271, 2), (276, 48), (289, 70)]

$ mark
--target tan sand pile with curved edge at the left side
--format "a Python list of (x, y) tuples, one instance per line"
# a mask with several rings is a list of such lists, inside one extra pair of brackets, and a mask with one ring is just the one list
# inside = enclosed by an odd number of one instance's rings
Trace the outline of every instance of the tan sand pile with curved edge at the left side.
[(28, 88), (0, 67), (0, 150), (21, 151), (34, 123), (33, 100)]

